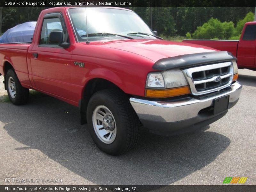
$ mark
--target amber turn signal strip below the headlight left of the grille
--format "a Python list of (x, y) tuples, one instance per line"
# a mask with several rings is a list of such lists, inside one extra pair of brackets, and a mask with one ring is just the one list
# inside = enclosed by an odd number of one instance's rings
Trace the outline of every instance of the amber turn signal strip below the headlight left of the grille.
[(189, 94), (188, 86), (172, 88), (172, 89), (146, 89), (146, 97), (174, 97)]

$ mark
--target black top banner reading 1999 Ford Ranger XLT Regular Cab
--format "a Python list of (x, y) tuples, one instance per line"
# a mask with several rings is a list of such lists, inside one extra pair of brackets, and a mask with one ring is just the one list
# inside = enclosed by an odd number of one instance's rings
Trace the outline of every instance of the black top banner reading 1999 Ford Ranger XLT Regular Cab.
[(4, 0), (1, 7), (116, 6), (116, 7), (255, 7), (255, 0)]

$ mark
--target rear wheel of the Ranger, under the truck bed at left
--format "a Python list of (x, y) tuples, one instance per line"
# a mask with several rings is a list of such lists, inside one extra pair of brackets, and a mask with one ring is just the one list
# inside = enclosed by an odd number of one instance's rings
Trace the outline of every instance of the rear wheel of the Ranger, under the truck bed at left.
[(14, 105), (22, 105), (28, 102), (29, 89), (21, 86), (13, 69), (9, 69), (5, 78), (9, 99)]

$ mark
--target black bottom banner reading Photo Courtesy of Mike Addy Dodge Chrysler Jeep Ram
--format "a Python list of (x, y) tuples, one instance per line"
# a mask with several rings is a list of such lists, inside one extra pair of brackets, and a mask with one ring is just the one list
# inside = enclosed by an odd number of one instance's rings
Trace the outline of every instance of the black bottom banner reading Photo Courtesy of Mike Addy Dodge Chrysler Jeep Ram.
[(70, 185), (52, 185), (52, 186), (40, 186), (40, 185), (13, 185), (13, 186), (6, 186), (2, 185), (0, 186), (1, 192), (126, 192), (126, 191), (132, 191), (132, 192), (146, 192), (146, 191), (152, 191), (152, 192), (198, 192), (198, 191), (204, 191), (204, 192), (219, 192), (219, 191), (239, 191), (239, 192), (254, 192), (256, 191), (256, 186), (248, 186), (248, 185), (228, 185), (228, 186), (177, 186), (177, 185), (171, 185), (171, 186), (151, 186), (151, 185), (139, 185), (139, 186), (110, 186), (110, 185), (102, 185), (102, 186), (88, 186), (88, 185), (79, 185), (79, 186), (70, 186)]

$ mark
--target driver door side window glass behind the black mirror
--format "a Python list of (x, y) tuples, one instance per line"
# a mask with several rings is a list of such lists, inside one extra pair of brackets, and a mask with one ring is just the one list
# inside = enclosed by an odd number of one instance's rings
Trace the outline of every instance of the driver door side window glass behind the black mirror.
[(49, 36), (51, 31), (62, 31), (63, 28), (59, 18), (45, 18), (43, 21), (43, 27), (41, 31), (40, 44), (53, 44), (49, 42)]

